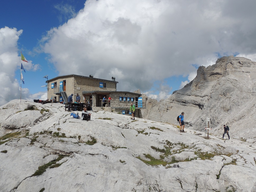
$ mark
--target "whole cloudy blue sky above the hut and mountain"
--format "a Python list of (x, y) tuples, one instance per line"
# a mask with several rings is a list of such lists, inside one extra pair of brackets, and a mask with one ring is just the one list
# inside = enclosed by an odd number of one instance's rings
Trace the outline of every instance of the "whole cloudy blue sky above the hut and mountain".
[[(196, 76), (198, 66), (237, 55), (256, 60), (255, 1), (3, 1), (0, 105), (46, 99), (49, 79), (68, 74), (119, 82), (157, 100)], [(2, 46), (1, 46), (2, 45)]]

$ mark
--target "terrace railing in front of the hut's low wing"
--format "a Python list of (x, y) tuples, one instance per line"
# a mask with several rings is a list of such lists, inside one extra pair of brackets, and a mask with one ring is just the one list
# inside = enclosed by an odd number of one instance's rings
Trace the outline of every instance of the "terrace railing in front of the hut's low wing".
[[(107, 107), (109, 102), (106, 100), (106, 102), (101, 100), (101, 106)], [(146, 108), (146, 102), (145, 101), (121, 101), (121, 100), (111, 100), (110, 107), (112, 108), (127, 108), (130, 109), (131, 103), (135, 105), (136, 109), (145, 109)], [(106, 104), (106, 106), (104, 106)]]

